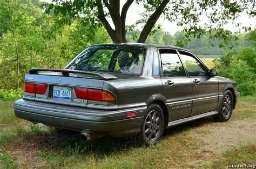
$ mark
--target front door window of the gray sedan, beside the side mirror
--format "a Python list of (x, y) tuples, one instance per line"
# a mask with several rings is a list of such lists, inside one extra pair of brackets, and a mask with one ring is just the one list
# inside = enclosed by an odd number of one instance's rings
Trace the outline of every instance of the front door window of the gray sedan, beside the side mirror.
[(195, 58), (192, 57), (190, 53), (179, 51), (180, 57), (186, 65), (188, 75), (190, 76), (206, 76), (206, 71)]

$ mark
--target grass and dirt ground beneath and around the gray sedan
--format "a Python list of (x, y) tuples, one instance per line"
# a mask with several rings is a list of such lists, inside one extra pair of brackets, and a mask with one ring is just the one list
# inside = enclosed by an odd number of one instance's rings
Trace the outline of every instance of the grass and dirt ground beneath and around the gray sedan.
[(17, 119), (0, 102), (0, 168), (225, 168), (256, 164), (256, 98), (243, 97), (226, 123), (205, 118), (172, 127), (157, 145), (136, 137), (82, 143), (77, 132)]

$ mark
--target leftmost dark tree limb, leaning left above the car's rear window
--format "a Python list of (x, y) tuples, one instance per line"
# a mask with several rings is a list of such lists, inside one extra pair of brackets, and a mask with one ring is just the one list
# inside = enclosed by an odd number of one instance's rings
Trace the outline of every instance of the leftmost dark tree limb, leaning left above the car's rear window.
[(115, 42), (116, 41), (116, 37), (114, 35), (114, 30), (111, 28), (109, 22), (107, 22), (107, 19), (104, 15), (104, 10), (103, 10), (103, 6), (102, 6), (102, 2), (101, 0), (95, 0), (96, 1), (96, 5), (97, 5), (97, 9), (98, 9), (98, 18), (99, 21), (102, 22), (102, 24), (104, 25), (105, 29), (107, 30), (107, 33), (109, 33), (109, 36), (111, 37), (112, 41)]

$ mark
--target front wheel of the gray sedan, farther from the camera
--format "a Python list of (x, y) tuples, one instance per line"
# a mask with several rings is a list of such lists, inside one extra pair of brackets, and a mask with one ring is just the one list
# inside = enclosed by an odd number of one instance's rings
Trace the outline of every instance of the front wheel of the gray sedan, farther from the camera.
[(226, 90), (223, 94), (223, 101), (221, 103), (220, 111), (213, 116), (216, 121), (227, 121), (230, 119), (233, 112), (233, 94), (230, 90)]

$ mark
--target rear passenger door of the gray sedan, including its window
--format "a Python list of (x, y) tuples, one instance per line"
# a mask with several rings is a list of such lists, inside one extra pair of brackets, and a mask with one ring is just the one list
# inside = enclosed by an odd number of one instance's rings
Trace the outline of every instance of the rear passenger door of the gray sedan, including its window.
[(163, 96), (169, 107), (169, 121), (190, 116), (192, 82), (187, 77), (176, 50), (158, 49)]

